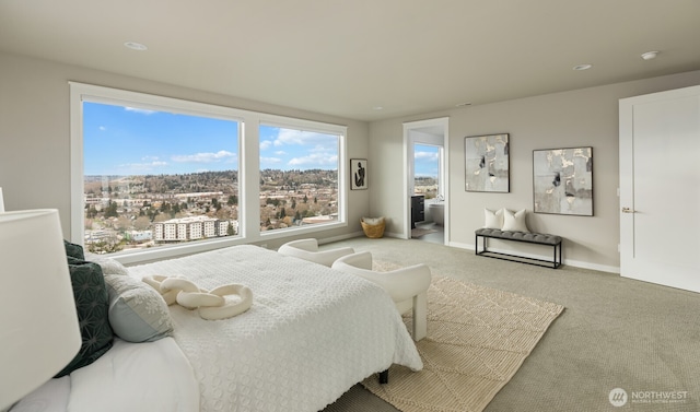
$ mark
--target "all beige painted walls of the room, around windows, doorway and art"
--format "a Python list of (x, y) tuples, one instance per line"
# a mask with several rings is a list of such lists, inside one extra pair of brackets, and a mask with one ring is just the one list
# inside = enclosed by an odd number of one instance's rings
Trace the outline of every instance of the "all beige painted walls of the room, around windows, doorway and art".
[[(387, 234), (402, 233), (405, 178), (402, 122), (450, 117), (451, 210), (448, 243), (474, 246), (483, 208), (533, 208), (532, 151), (592, 145), (592, 217), (530, 214), (532, 229), (562, 235), (564, 261), (616, 271), (619, 268), (618, 99), (700, 84), (700, 71), (584, 89), (434, 114), (376, 121), (340, 119), (293, 108), (126, 78), (107, 72), (0, 54), (0, 187), (7, 210), (56, 208), (65, 233), (70, 228), (68, 81), (219, 104), (348, 126), (348, 157), (369, 160), (369, 190), (349, 192), (347, 229), (358, 233), (363, 215), (387, 217)], [(511, 192), (464, 190), (464, 137), (511, 133)]]

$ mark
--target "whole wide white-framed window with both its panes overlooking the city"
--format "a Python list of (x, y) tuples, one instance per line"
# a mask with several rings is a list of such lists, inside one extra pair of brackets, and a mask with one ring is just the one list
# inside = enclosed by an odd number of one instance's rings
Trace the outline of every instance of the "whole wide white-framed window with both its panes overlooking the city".
[(85, 249), (129, 263), (347, 226), (346, 127), (70, 85)]

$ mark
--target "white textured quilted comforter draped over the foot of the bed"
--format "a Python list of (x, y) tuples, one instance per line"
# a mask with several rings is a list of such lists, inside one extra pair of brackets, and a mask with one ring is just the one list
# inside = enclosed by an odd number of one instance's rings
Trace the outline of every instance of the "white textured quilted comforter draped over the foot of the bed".
[(241, 283), (253, 307), (226, 320), (171, 306), (202, 412), (308, 411), (393, 363), (422, 368), (390, 297), (375, 284), (256, 246), (129, 268), (183, 275), (203, 289)]

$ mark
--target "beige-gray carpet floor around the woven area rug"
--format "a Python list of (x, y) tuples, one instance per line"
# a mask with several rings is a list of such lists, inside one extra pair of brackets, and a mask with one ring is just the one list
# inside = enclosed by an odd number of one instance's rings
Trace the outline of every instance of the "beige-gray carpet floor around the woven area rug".
[[(486, 412), (700, 411), (700, 294), (565, 266), (476, 257), (417, 239), (358, 237), (322, 248), (339, 246), (401, 266), (424, 262), (442, 275), (567, 308)], [(609, 401), (616, 388), (628, 395), (622, 408)], [(397, 410), (358, 385), (324, 411)]]

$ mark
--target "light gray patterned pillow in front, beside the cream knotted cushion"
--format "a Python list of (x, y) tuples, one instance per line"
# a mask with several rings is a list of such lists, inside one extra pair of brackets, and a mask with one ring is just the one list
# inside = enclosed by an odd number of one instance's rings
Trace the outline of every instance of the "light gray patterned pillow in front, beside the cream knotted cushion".
[(167, 304), (150, 285), (121, 274), (106, 274), (109, 323), (125, 341), (152, 342), (173, 334)]

